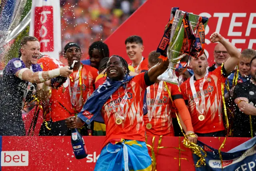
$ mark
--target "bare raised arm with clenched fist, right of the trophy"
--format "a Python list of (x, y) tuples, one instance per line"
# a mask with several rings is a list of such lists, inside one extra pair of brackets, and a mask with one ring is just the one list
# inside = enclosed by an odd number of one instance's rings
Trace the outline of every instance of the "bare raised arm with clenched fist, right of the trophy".
[(241, 53), (238, 51), (238, 49), (229, 41), (226, 41), (219, 33), (214, 32), (210, 36), (211, 42), (216, 43), (220, 42), (228, 51), (228, 54), (230, 55), (230, 58), (224, 63), (224, 68), (226, 70), (226, 73), (231, 73), (234, 71), (236, 65), (238, 64), (238, 61), (240, 59)]

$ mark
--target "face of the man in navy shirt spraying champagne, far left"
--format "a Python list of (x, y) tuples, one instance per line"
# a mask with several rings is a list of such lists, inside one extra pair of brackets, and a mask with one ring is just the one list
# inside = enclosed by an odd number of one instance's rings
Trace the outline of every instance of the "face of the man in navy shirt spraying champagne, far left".
[(25, 45), (22, 45), (20, 52), (28, 63), (36, 64), (40, 53), (39, 41), (28, 41)]

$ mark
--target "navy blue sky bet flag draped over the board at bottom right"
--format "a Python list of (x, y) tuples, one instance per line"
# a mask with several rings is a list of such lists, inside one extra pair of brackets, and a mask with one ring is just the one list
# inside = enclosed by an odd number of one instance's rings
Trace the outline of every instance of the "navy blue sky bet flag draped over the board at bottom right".
[[(198, 145), (207, 148), (206, 166), (196, 167), (196, 171), (222, 171), (218, 149), (214, 149), (200, 141)], [(255, 171), (256, 170), (256, 137), (238, 145), (228, 152), (221, 152), (223, 171)], [(193, 154), (194, 164), (200, 159)]]

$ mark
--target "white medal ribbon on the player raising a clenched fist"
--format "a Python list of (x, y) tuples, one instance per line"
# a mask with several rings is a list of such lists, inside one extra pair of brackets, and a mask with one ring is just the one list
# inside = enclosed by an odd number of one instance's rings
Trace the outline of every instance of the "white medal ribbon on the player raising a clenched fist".
[(197, 95), (196, 95), (196, 88), (195, 88), (195, 85), (194, 85), (194, 75), (192, 75), (192, 77), (190, 77), (190, 80), (189, 80), (189, 84), (190, 84), (191, 91), (192, 91), (192, 94), (193, 94), (194, 102), (196, 103), (196, 110), (200, 114), (203, 114), (204, 109), (205, 109), (205, 96), (204, 96), (203, 86), (204, 86), (204, 82), (206, 81), (207, 77), (208, 77), (208, 69), (206, 69), (206, 75), (204, 76), (204, 80), (203, 80), (202, 83), (200, 83), (200, 87), (199, 87), (199, 90), (200, 90), (200, 93), (201, 93), (202, 112), (200, 112), (200, 110), (198, 108), (199, 100), (198, 100)]

